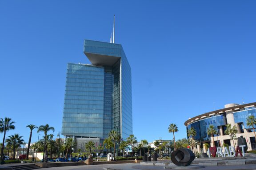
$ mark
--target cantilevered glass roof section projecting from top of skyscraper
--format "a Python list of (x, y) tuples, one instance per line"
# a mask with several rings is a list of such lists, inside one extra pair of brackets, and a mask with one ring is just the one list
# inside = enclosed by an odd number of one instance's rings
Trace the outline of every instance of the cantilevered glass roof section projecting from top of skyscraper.
[(113, 66), (123, 51), (120, 44), (84, 40), (84, 54), (93, 65)]

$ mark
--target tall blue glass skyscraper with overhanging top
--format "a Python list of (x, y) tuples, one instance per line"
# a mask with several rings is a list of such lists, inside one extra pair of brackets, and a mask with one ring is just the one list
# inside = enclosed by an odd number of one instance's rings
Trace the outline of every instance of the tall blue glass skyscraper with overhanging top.
[[(131, 67), (120, 44), (84, 40), (92, 64), (68, 63), (62, 135), (100, 144), (132, 134)], [(79, 142), (78, 142), (79, 143)]]

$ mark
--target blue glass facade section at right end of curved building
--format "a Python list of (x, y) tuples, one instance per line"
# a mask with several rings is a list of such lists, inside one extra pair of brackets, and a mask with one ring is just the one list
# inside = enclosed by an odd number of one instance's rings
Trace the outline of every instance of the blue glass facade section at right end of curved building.
[(243, 123), (244, 124), (244, 128), (252, 128), (252, 127), (248, 127), (246, 125), (246, 118), (248, 116), (255, 116), (256, 117), (256, 108), (248, 108), (246, 110), (243, 110), (243, 111), (239, 111), (239, 112), (233, 112), (233, 115), (234, 115), (234, 120), (235, 120), (235, 123)]

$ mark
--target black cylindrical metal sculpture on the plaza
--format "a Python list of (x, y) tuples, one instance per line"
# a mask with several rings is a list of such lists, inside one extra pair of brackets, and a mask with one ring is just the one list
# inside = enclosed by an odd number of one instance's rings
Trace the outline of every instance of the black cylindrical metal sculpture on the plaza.
[(177, 166), (188, 166), (195, 158), (195, 154), (189, 149), (178, 149), (171, 155), (172, 163)]

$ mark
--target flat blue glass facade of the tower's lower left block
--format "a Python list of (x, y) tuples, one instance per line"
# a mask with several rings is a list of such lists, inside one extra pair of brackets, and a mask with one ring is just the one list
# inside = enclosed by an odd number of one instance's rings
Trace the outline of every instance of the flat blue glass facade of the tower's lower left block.
[(62, 134), (103, 135), (104, 68), (68, 63)]

